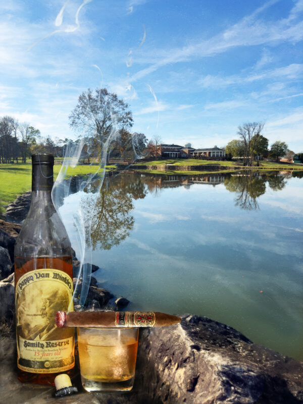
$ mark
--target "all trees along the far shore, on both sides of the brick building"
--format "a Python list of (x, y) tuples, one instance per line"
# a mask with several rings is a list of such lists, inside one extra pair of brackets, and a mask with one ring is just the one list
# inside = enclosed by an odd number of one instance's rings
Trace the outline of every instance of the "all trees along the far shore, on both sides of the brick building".
[[(78, 98), (76, 107), (69, 115), (71, 129), (78, 139), (42, 137), (40, 130), (29, 123), (19, 123), (14, 117), (0, 118), (0, 163), (22, 163), (31, 154), (49, 153), (64, 157), (68, 145), (77, 146), (82, 140), (80, 161), (90, 163), (91, 158), (122, 157), (132, 160), (144, 150), (145, 156), (159, 158), (161, 138), (154, 136), (148, 141), (143, 133), (131, 133), (132, 112), (123, 99), (110, 93), (107, 88), (88, 88)], [(285, 156), (291, 161), (294, 152), (282, 141), (275, 141), (269, 148), (269, 140), (263, 136), (264, 123), (250, 122), (238, 127), (238, 138), (225, 148), (227, 159), (241, 158), (243, 165), (251, 166), (253, 160)], [(82, 140), (80, 140), (82, 139)], [(82, 144), (82, 143), (81, 143)], [(303, 154), (297, 155), (303, 161)]]

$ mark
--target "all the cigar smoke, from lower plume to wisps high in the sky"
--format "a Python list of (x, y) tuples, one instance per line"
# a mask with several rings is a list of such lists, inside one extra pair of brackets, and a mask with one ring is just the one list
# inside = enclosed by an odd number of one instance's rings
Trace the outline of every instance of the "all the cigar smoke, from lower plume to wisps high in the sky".
[[(77, 31), (80, 27), (81, 10), (91, 3), (92, 0), (82, 0), (77, 10), (71, 14), (73, 10), (73, 2), (66, 0), (57, 17), (54, 21), (55, 30), (49, 33), (41, 34), (41, 38), (31, 44), (28, 51), (40, 41), (46, 40), (46, 38), (57, 35), (58, 33), (70, 34)], [(132, 11), (132, 7), (131, 7)], [(102, 38), (102, 37), (101, 37)], [(105, 40), (104, 38), (102, 38)], [(133, 57), (137, 51), (142, 47), (146, 40), (146, 29), (143, 25), (143, 34), (135, 46), (128, 52), (126, 65), (127, 68), (133, 66)], [(98, 64), (93, 64), (90, 68), (97, 69), (100, 73), (101, 83), (100, 89), (103, 85), (103, 72), (99, 68)], [(133, 85), (130, 73), (127, 72), (127, 77), (124, 81), (125, 99), (132, 100), (137, 97), (137, 93)], [(158, 105), (156, 94), (153, 89), (148, 86), (149, 91), (153, 95), (156, 104)], [(92, 133), (92, 128), (96, 126), (95, 116), (93, 112), (88, 112), (89, 119), (86, 122), (86, 127), (83, 128), (82, 133), (78, 134), (78, 137), (70, 140), (66, 146), (64, 161), (60, 170), (60, 173), (56, 179), (56, 182), (52, 191), (53, 203), (67, 229), (68, 235), (72, 241), (72, 247), (76, 252), (76, 257), (80, 261), (80, 270), (77, 276), (77, 286), (81, 283), (81, 293), (79, 297), (80, 305), (83, 307), (87, 297), (90, 278), (91, 278), (91, 263), (92, 263), (92, 242), (91, 242), (91, 226), (94, 220), (94, 208), (100, 194), (102, 187), (107, 186), (106, 177), (106, 165), (108, 164), (111, 150), (115, 141), (119, 141), (121, 132), (118, 129), (117, 119), (115, 115), (111, 114), (112, 129), (107, 138), (102, 138), (97, 135), (97, 128), (95, 133)], [(158, 108), (158, 123), (159, 123), (159, 108)], [(157, 128), (158, 128), (157, 123)], [(90, 156), (92, 149), (91, 139), (95, 138), (95, 142), (98, 142), (98, 163), (91, 161), (89, 164), (94, 168), (90, 174), (75, 176), (76, 170), (83, 160)], [(98, 140), (99, 139), (99, 140)], [(128, 161), (129, 164), (142, 157), (142, 145), (137, 139), (137, 134), (134, 133), (130, 140), (130, 146), (132, 153), (129, 153), (128, 148)], [(95, 148), (95, 144), (94, 144)], [(60, 156), (61, 157), (61, 156)], [(96, 164), (96, 165), (94, 165)], [(82, 166), (81, 166), (82, 167)], [(127, 167), (126, 167), (127, 168)], [(85, 265), (84, 265), (85, 264)]]

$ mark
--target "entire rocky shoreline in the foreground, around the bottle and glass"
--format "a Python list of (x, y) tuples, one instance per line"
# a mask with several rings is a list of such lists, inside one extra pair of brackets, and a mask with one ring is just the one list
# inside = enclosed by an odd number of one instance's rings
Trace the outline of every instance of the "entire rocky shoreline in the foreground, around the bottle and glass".
[[(22, 384), (16, 376), (14, 336), (14, 244), (30, 204), (30, 192), (7, 207), (0, 220), (0, 394), (10, 404), (58, 402), (53, 388)], [(73, 256), (74, 274), (79, 261)], [(98, 268), (92, 267), (92, 272)], [(74, 279), (75, 280), (75, 279)], [(128, 300), (100, 288), (92, 276), (88, 310), (123, 310)], [(74, 301), (79, 309), (78, 301)], [(65, 403), (108, 404), (299, 404), (303, 363), (254, 344), (239, 331), (207, 317), (181, 315), (170, 327), (141, 329), (135, 385), (125, 394), (81, 391)]]

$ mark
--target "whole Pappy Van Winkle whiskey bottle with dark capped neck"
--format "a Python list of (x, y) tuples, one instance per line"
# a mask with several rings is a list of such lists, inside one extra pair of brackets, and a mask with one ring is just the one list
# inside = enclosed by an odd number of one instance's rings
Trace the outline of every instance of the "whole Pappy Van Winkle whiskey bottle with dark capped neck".
[(73, 310), (71, 244), (52, 202), (52, 155), (32, 156), (32, 198), (15, 245), (18, 379), (54, 385), (72, 373), (74, 329), (55, 324)]

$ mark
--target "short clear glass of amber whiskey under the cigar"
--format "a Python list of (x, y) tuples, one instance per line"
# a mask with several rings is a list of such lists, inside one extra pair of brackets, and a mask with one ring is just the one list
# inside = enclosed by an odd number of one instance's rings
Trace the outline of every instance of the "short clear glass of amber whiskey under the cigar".
[(87, 391), (132, 389), (138, 348), (138, 328), (78, 327), (82, 386)]

